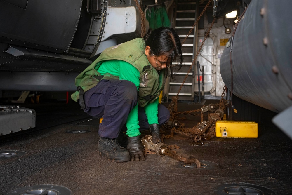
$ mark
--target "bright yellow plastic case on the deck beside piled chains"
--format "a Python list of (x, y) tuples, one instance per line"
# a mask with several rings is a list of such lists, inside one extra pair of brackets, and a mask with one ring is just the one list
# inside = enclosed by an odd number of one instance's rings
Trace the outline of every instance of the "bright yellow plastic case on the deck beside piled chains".
[(255, 121), (217, 121), (216, 137), (257, 138), (258, 123)]

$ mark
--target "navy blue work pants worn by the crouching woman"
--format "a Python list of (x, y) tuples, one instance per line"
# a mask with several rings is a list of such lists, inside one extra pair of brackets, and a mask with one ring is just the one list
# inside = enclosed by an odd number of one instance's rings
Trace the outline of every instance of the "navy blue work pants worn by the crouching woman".
[[(137, 105), (138, 92), (134, 83), (127, 80), (101, 80), (95, 87), (84, 93), (84, 112), (93, 117), (103, 117), (98, 134), (101, 137), (117, 138), (125, 130), (128, 114)], [(168, 109), (158, 105), (158, 123), (169, 120)], [(140, 130), (149, 129), (144, 108), (138, 106)]]

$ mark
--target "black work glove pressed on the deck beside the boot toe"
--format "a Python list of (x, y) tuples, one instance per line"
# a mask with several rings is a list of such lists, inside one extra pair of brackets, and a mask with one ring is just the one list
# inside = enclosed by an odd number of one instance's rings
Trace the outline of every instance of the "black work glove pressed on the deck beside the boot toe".
[(128, 137), (129, 144), (127, 150), (130, 153), (131, 161), (145, 161), (143, 146), (139, 136)]

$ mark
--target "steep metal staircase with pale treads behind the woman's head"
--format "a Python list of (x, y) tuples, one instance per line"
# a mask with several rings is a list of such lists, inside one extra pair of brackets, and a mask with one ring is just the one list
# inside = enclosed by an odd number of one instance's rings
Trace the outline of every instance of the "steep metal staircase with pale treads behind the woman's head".
[[(173, 28), (177, 31), (182, 42), (198, 17), (198, 5), (199, 1), (177, 1), (176, 18)], [(166, 94), (167, 100), (171, 100), (171, 98), (177, 94), (192, 64), (195, 53), (197, 52), (197, 29), (198, 27), (195, 26), (194, 30), (192, 30), (191, 34), (182, 45), (184, 63), (180, 71), (176, 73), (175, 78), (169, 79), (168, 93)], [(190, 100), (193, 102), (195, 79), (197, 79), (197, 75), (195, 74), (196, 67), (196, 65), (193, 65), (192, 71), (189, 73), (189, 76), (180, 90), (178, 95), (179, 100)]]

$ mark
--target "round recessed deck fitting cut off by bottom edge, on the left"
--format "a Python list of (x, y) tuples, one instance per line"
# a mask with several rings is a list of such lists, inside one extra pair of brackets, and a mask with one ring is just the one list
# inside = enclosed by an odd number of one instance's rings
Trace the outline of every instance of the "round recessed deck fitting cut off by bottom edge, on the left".
[(55, 185), (35, 185), (29, 187), (23, 187), (16, 190), (11, 190), (6, 195), (70, 195), (71, 191), (64, 186)]

